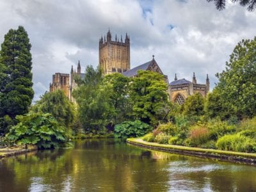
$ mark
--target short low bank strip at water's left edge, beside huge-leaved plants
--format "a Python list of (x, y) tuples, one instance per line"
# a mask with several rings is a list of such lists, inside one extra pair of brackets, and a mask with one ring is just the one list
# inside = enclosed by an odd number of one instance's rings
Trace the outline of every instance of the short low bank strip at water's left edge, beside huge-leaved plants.
[(15, 148), (0, 148), (0, 159), (4, 157), (10, 157), (10, 156), (17, 156), (20, 154), (26, 154), (31, 151), (38, 150), (37, 146), (35, 145), (29, 145), (28, 149), (26, 148), (20, 148), (20, 147), (15, 147)]

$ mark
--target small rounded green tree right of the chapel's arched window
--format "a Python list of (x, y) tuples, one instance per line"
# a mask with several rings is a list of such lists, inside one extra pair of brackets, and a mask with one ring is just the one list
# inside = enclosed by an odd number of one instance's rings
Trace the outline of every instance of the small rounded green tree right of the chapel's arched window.
[(200, 116), (204, 114), (205, 99), (200, 93), (189, 96), (184, 103), (183, 114), (187, 116)]

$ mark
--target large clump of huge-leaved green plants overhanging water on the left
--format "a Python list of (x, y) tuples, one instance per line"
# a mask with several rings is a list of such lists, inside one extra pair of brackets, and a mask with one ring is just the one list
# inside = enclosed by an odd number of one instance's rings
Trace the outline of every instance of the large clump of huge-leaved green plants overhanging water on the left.
[(19, 124), (13, 126), (7, 137), (20, 144), (37, 145), (38, 148), (56, 148), (64, 143), (67, 134), (50, 114), (28, 113), (16, 116)]

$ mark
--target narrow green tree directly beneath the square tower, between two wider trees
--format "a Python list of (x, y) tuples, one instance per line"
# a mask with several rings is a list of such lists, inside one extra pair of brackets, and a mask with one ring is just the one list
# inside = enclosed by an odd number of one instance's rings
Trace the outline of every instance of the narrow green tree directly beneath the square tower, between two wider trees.
[(129, 83), (131, 79), (119, 73), (109, 74), (104, 77), (103, 84), (109, 87), (109, 104), (114, 108), (113, 124), (124, 122), (131, 113), (131, 103), (129, 102)]

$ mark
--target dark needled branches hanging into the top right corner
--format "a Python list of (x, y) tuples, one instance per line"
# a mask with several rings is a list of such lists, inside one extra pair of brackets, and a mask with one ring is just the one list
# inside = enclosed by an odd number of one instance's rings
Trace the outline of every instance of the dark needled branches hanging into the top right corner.
[[(208, 2), (214, 1), (218, 10), (225, 9), (226, 0), (206, 0)], [(248, 6), (247, 10), (252, 12), (256, 8), (256, 0), (231, 0), (233, 3), (239, 2), (241, 6)]]

